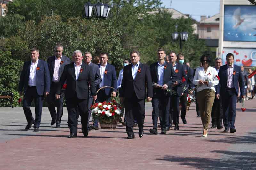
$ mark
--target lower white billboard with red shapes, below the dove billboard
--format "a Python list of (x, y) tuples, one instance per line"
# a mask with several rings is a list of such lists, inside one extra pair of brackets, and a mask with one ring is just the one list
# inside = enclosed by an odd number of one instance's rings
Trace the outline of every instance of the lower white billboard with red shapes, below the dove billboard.
[(256, 49), (252, 48), (223, 48), (222, 64), (226, 64), (226, 55), (234, 55), (234, 64), (238, 66), (255, 67), (256, 66)]

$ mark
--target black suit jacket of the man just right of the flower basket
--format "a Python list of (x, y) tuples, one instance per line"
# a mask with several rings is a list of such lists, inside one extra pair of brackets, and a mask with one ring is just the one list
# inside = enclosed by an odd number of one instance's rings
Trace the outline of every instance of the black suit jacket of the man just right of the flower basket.
[(149, 66), (140, 62), (138, 70), (139, 69), (140, 73), (137, 72), (137, 75), (133, 80), (132, 64), (124, 67), (120, 97), (131, 98), (134, 92), (138, 99), (153, 97), (152, 79)]

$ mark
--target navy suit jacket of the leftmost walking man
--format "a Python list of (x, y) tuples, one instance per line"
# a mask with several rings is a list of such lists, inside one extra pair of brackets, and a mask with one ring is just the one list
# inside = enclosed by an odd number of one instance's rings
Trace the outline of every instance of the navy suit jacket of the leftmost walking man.
[[(28, 89), (28, 79), (30, 74), (30, 61), (26, 61), (23, 65), (20, 82), (19, 82), (19, 91), (26, 92)], [(36, 70), (36, 91), (38, 95), (44, 95), (44, 92), (50, 92), (50, 74), (47, 66), (47, 62), (43, 60), (38, 60), (37, 67), (39, 70)]]

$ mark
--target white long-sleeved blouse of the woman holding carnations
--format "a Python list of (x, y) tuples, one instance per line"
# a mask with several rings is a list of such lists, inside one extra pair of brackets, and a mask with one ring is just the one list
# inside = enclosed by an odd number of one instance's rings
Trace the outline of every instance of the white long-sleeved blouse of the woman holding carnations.
[(216, 75), (218, 75), (216, 69), (211, 66), (208, 67), (206, 73), (204, 72), (204, 67), (196, 68), (193, 84), (197, 85), (197, 91), (202, 91), (203, 89), (211, 89), (215, 91), (214, 86), (219, 84), (219, 80), (217, 78), (215, 80), (209, 81), (208, 86), (206, 84), (198, 84), (198, 81), (207, 81), (209, 79), (212, 79)]

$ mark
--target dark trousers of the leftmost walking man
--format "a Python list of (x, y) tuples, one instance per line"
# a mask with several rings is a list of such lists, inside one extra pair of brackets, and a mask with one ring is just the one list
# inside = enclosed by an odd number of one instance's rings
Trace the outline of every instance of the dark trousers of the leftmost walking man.
[(42, 107), (43, 107), (44, 96), (37, 94), (36, 86), (28, 87), (25, 92), (23, 99), (23, 110), (28, 124), (34, 120), (32, 112), (30, 110), (31, 103), (34, 100), (35, 103), (35, 124), (34, 128), (39, 128), (42, 117)]

